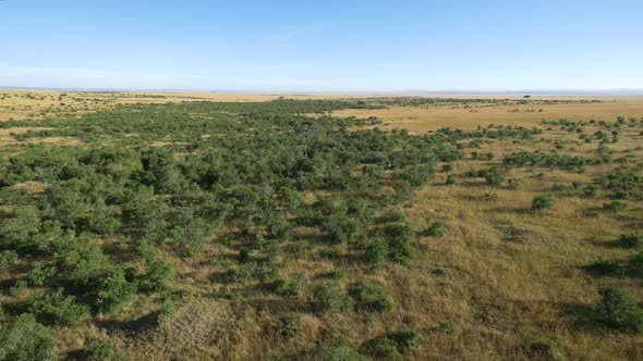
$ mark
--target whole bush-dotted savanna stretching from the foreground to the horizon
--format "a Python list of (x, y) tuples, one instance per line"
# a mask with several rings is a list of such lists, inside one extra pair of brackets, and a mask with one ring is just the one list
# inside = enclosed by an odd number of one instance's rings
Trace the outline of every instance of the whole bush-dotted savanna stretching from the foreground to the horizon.
[(643, 359), (643, 99), (0, 90), (0, 359)]

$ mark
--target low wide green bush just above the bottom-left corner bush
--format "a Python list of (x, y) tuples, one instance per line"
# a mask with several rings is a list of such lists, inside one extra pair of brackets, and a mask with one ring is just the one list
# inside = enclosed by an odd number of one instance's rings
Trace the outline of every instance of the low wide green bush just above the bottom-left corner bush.
[(74, 325), (89, 319), (89, 307), (76, 303), (74, 296), (65, 297), (62, 288), (52, 294), (31, 295), (26, 303), (29, 313), (57, 325)]

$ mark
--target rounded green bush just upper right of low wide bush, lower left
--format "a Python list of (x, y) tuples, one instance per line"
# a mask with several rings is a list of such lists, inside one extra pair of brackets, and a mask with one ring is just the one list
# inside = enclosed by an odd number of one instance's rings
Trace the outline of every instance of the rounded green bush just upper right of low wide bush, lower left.
[(135, 295), (136, 285), (128, 282), (123, 267), (118, 267), (100, 281), (96, 306), (105, 313), (119, 312)]

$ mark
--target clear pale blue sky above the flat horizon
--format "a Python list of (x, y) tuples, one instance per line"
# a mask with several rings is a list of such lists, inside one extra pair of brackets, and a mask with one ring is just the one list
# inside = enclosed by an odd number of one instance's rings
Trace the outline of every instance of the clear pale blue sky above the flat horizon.
[(642, 89), (641, 0), (0, 0), (0, 86)]

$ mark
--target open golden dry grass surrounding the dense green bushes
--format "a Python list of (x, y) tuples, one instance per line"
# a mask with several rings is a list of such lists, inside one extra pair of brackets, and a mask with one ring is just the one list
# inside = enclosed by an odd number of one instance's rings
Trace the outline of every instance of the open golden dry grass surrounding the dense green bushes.
[[(28, 127), (28, 120), (56, 122), (59, 117), (82, 116), (123, 103), (254, 102), (279, 97), (0, 90), (0, 121), (25, 121), (24, 127), (0, 129), (0, 151), (12, 154), (20, 151), (15, 146), (25, 141), (84, 146), (74, 137), (16, 139), (16, 134), (34, 130)], [(287, 96), (289, 99), (345, 97)], [(609, 200), (569, 191), (573, 182), (590, 185), (620, 164), (591, 165), (582, 172), (544, 165), (508, 167), (506, 177), (518, 179), (518, 189), (506, 184), (489, 186), (484, 178), (466, 175), (471, 171), (501, 166), (504, 157), (518, 151), (595, 157), (596, 141), (584, 142), (579, 139), (579, 133), (542, 121), (582, 121), (586, 123), (584, 133), (592, 135), (602, 128), (597, 122), (612, 124), (617, 116), (635, 119), (638, 123), (619, 129), (619, 141), (608, 145), (612, 158), (629, 157), (630, 165), (641, 169), (643, 97), (543, 99), (570, 102), (538, 103), (539, 98), (534, 97), (525, 104), (445, 103), (330, 112), (340, 117), (375, 116), (384, 122), (377, 125), (383, 129), (403, 128), (416, 135), (444, 127), (473, 130), (488, 124), (544, 130), (533, 140), (486, 139), (475, 151), (493, 153), (493, 159), (472, 159), (471, 150), (464, 149), (463, 158), (452, 162), (452, 171), (438, 173), (416, 190), (400, 211), (416, 229), (430, 219), (444, 221), (447, 233), (440, 238), (416, 236), (413, 241), (416, 256), (408, 265), (391, 263), (380, 270), (365, 271), (350, 259), (320, 257), (313, 244), (301, 249), (280, 270), (287, 277), (305, 271), (308, 287), (301, 297), (284, 300), (252, 282), (242, 298), (221, 297), (229, 289), (218, 282), (217, 275), (226, 272), (223, 260), (232, 253), (217, 246), (221, 237), (218, 234), (213, 248), (203, 254), (168, 256), (174, 270), (172, 287), (185, 295), (168, 323), (148, 326), (146, 314), (156, 310), (158, 300), (138, 298), (118, 315), (98, 315), (92, 323), (57, 327), (59, 348), (63, 353), (71, 352), (73, 358), (75, 350), (107, 340), (132, 360), (252, 360), (279, 354), (315, 359), (314, 350), (335, 335), (342, 335), (351, 347), (362, 349), (365, 340), (412, 328), (418, 331), (420, 344), (405, 351), (404, 358), (410, 360), (643, 359), (642, 336), (596, 327), (584, 316), (598, 299), (597, 288), (606, 283), (621, 285), (643, 300), (640, 278), (596, 277), (584, 269), (597, 259), (628, 259), (631, 251), (612, 244), (620, 234), (643, 231), (643, 202), (629, 200), (622, 212), (589, 216), (587, 210), (600, 208)], [(587, 99), (600, 102), (578, 102)], [(596, 124), (589, 124), (591, 120)], [(38, 128), (43, 129), (46, 128)], [(446, 184), (449, 174), (458, 179), (456, 184)], [(532, 211), (532, 199), (546, 192), (555, 194), (553, 209)], [(305, 232), (299, 229), (298, 235), (304, 237)], [(368, 278), (383, 284), (397, 308), (379, 318), (306, 312), (313, 286), (335, 269), (347, 270), (351, 281)], [(0, 271), (4, 281), (12, 276), (8, 271)], [(279, 329), (284, 315), (293, 312), (301, 313), (299, 331), (293, 338), (284, 338), (275, 329)], [(556, 349), (534, 351), (532, 345), (542, 339), (554, 340)]]

